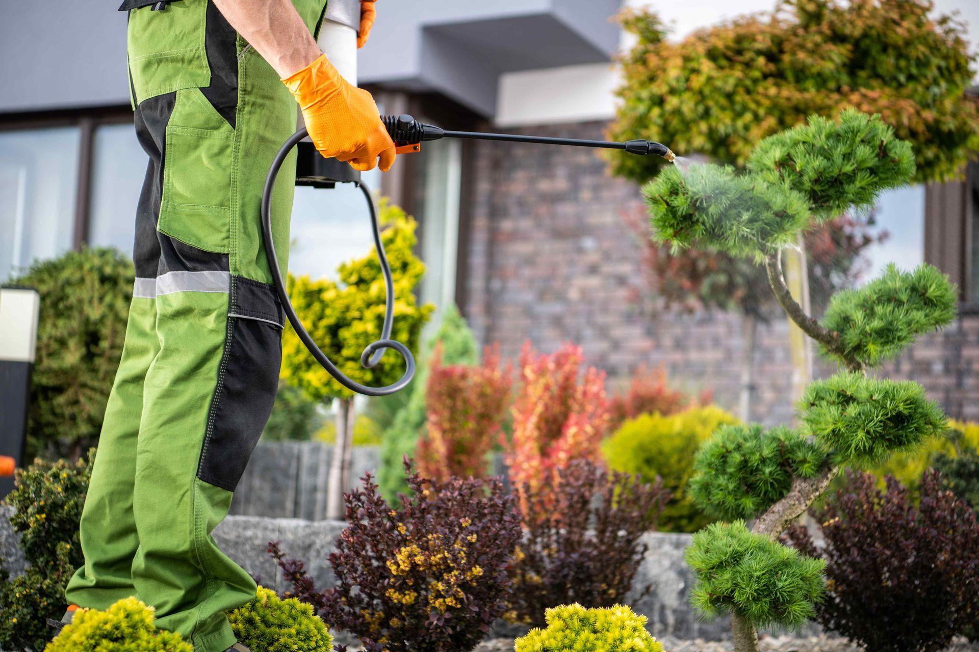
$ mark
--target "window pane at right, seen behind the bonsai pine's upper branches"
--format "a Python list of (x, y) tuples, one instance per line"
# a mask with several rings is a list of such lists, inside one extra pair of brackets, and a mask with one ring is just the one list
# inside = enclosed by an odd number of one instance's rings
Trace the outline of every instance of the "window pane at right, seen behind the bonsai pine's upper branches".
[(881, 195), (869, 233), (875, 238), (886, 233), (887, 237), (863, 250), (870, 264), (861, 283), (880, 276), (888, 263), (912, 270), (924, 262), (924, 186), (898, 188)]

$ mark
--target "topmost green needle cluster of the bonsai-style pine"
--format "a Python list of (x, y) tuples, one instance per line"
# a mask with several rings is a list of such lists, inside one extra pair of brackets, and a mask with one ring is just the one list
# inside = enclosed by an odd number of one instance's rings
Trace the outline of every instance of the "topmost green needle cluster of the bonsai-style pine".
[(769, 136), (751, 152), (748, 169), (806, 196), (813, 215), (826, 220), (868, 210), (881, 192), (907, 184), (914, 155), (880, 115), (845, 109), (836, 122), (811, 115)]

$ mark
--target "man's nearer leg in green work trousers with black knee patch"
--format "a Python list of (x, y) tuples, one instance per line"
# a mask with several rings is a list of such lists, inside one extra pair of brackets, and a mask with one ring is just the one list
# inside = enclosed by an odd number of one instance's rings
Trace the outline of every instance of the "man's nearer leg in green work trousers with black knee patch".
[[(132, 46), (134, 29), (146, 27), (154, 38), (168, 33), (148, 26), (160, 14), (180, 9), (190, 21), (206, 8), (210, 66), (210, 86), (172, 93), (157, 135), (164, 161), (155, 287), (160, 350), (144, 382), (133, 494), (139, 547), (131, 574), (161, 628), (178, 631), (197, 652), (219, 652), (235, 642), (224, 612), (256, 590), (211, 531), (227, 514), (275, 399), (284, 320), (261, 251), (259, 202), (297, 111), (271, 66), (236, 38), (210, 2), (202, 3), (130, 14)], [(312, 27), (324, 3), (302, 3)], [(162, 87), (140, 75), (165, 72), (164, 55), (140, 59), (130, 52), (131, 69), (134, 59), (154, 62), (134, 71), (140, 109), (147, 104), (140, 89)], [(273, 206), (283, 253), (294, 165), (292, 159), (283, 166)]]

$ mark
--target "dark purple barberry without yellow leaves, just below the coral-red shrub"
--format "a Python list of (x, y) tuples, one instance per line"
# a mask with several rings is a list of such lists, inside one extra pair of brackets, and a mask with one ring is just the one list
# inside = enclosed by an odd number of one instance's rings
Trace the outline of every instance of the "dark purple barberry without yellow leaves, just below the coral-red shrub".
[[(544, 627), (544, 612), (554, 605), (626, 604), (647, 550), (640, 538), (670, 500), (663, 483), (582, 459), (556, 472), (554, 488), (525, 483), (517, 493), (527, 511), (505, 618)], [(639, 597), (649, 588), (640, 589)]]

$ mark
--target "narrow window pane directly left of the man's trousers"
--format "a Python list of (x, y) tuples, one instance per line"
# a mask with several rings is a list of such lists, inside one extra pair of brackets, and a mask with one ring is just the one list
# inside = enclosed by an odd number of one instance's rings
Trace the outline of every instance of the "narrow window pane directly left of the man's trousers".
[(115, 246), (131, 256), (136, 232), (136, 203), (149, 159), (131, 124), (99, 127), (95, 130), (92, 148), (88, 243)]

